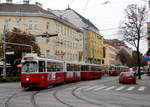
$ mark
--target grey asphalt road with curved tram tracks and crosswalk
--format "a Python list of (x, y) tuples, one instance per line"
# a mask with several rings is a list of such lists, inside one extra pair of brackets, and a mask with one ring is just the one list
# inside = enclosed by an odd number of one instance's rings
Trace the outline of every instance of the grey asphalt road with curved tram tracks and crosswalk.
[(40, 90), (1, 83), (0, 107), (150, 107), (150, 78), (143, 78), (119, 84), (118, 77), (103, 77)]

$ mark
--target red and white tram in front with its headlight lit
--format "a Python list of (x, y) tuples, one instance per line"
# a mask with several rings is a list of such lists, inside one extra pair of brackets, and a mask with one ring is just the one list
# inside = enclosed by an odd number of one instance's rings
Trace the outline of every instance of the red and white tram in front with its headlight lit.
[(101, 77), (100, 66), (69, 62), (27, 54), (22, 58), (21, 86), (23, 88), (48, 87), (64, 82)]

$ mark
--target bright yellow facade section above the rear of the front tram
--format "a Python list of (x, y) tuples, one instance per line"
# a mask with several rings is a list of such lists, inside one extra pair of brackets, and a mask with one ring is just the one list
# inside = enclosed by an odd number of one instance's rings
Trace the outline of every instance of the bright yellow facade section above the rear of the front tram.
[(100, 34), (89, 30), (87, 45), (87, 56), (89, 62), (104, 64), (105, 48), (103, 44), (103, 37)]

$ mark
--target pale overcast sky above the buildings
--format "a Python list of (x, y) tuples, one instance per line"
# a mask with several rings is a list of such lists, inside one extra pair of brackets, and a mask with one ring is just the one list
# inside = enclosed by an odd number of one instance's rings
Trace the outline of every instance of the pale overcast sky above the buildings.
[[(23, 0), (13, 0), (19, 3)], [(128, 4), (148, 6), (147, 0), (30, 0), (30, 3), (42, 3), (43, 8), (63, 10), (70, 6), (76, 12), (89, 19), (100, 29), (100, 34), (105, 39), (120, 38), (118, 26), (124, 17), (124, 9)], [(1, 0), (5, 2), (5, 0)], [(146, 48), (145, 48), (146, 47)], [(141, 43), (140, 51), (147, 51), (147, 41)]]

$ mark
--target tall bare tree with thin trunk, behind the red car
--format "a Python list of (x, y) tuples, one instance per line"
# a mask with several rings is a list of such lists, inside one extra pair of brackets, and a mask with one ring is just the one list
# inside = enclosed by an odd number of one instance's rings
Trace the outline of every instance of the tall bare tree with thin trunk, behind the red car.
[[(140, 68), (140, 40), (144, 35), (144, 25), (146, 21), (146, 7), (138, 7), (136, 4), (128, 5), (125, 9), (125, 20), (120, 26), (120, 32), (123, 40), (131, 44), (137, 51), (137, 62)], [(138, 69), (138, 78), (141, 79), (140, 69)]]

